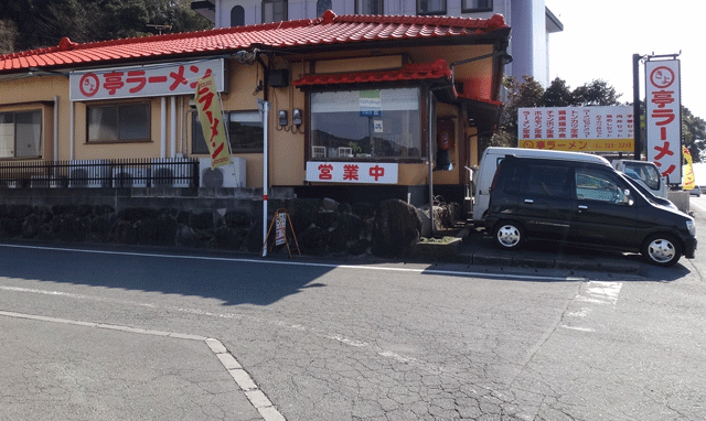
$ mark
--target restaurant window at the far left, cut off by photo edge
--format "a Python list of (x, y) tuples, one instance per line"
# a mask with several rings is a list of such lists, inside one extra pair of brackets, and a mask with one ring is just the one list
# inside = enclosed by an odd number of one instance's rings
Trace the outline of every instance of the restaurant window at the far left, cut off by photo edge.
[(40, 156), (42, 111), (0, 112), (0, 158)]

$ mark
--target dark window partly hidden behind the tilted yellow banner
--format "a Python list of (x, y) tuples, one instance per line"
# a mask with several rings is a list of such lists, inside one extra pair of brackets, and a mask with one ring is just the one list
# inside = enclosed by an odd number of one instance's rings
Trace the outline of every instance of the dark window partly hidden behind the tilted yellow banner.
[[(224, 111), (223, 121), (227, 122), (226, 131), (232, 153), (263, 153), (263, 119), (259, 111)], [(208, 147), (203, 138), (203, 129), (199, 114), (192, 118), (192, 147), (194, 154), (208, 154)]]

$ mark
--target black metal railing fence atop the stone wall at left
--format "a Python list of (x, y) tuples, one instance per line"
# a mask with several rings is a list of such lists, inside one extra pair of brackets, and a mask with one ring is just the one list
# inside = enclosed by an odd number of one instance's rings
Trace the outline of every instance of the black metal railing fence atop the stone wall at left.
[(194, 186), (199, 160), (193, 158), (0, 162), (0, 187), (8, 188)]

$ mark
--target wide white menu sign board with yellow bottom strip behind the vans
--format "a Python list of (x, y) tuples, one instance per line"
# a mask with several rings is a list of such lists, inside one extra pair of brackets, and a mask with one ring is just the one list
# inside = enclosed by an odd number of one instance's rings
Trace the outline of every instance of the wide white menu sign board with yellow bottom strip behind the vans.
[(574, 152), (629, 152), (634, 150), (632, 108), (520, 108), (517, 145)]

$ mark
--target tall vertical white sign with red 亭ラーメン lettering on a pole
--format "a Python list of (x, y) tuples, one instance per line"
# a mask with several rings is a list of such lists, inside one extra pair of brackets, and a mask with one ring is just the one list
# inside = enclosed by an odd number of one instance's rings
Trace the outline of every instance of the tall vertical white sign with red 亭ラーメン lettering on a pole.
[(648, 161), (671, 184), (682, 182), (682, 96), (680, 61), (649, 61), (645, 73)]

